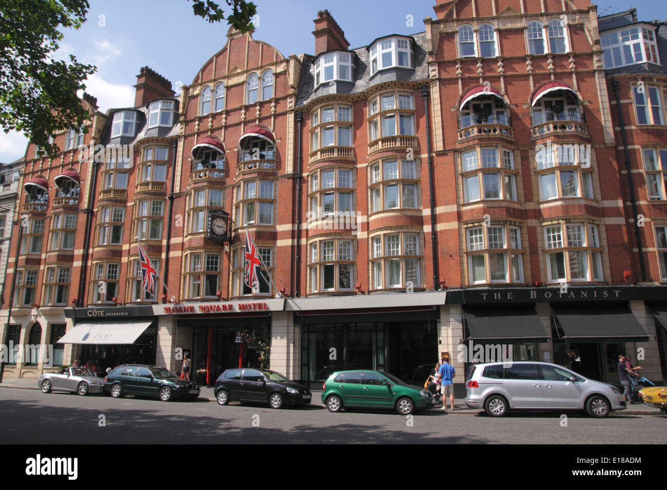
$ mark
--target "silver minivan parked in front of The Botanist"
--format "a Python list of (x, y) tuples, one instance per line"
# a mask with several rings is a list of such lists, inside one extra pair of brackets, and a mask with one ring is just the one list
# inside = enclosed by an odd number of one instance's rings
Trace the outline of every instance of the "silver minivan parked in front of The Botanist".
[(519, 361), (473, 365), (466, 379), (466, 405), (491, 417), (514, 409), (585, 410), (606, 417), (626, 409), (622, 391), (550, 363)]

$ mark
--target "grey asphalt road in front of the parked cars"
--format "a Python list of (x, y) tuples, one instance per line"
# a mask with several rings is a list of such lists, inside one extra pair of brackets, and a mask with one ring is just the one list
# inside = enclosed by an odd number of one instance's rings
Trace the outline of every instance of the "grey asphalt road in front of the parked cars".
[[(209, 393), (210, 392), (210, 393)], [(207, 389), (197, 401), (44, 394), (0, 390), (0, 441), (9, 444), (220, 444), (220, 443), (656, 443), (667, 417), (612, 413), (592, 419), (579, 413), (519, 413), (502, 419), (470, 411), (436, 409), (404, 417), (391, 412), (329, 413), (313, 405), (219, 406)]]

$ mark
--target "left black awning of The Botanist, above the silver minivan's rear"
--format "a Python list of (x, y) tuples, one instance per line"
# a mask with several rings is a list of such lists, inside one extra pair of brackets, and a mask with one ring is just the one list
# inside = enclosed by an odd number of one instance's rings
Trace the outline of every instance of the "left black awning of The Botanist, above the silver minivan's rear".
[(534, 307), (468, 308), (466, 323), (470, 339), (547, 339)]

